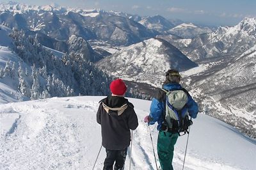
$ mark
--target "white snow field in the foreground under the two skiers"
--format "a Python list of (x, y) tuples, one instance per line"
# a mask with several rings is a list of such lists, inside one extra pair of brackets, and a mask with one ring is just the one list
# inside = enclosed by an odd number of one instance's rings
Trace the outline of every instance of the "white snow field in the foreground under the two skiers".
[[(96, 112), (102, 98), (55, 97), (0, 104), (0, 169), (92, 170), (101, 146)], [(133, 132), (131, 169), (156, 169), (149, 129), (143, 123), (150, 101), (129, 101), (139, 119)], [(193, 122), (184, 169), (256, 169), (255, 140), (204, 114)], [(156, 151), (156, 125), (150, 130)], [(187, 137), (179, 137), (175, 145), (174, 169), (182, 169)], [(130, 151), (127, 154), (125, 170)], [(102, 169), (105, 157), (102, 147), (95, 169)]]

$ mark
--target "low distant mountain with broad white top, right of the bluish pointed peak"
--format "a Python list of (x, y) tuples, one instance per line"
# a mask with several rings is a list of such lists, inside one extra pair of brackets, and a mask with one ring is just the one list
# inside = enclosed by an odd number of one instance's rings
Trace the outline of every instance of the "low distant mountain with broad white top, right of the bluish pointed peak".
[(192, 23), (183, 23), (179, 26), (169, 29), (167, 32), (182, 38), (194, 38), (204, 33), (211, 33), (212, 30), (209, 27), (199, 27)]

